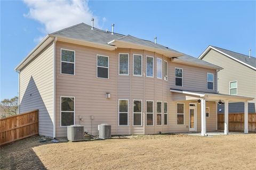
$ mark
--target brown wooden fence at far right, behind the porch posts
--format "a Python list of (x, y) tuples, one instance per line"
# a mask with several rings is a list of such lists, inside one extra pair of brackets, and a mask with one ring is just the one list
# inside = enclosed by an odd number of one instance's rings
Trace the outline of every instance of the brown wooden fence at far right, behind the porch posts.
[[(218, 114), (218, 130), (224, 130), (224, 114)], [(244, 114), (228, 114), (228, 131), (244, 132)], [(256, 114), (248, 114), (248, 131), (256, 132)]]

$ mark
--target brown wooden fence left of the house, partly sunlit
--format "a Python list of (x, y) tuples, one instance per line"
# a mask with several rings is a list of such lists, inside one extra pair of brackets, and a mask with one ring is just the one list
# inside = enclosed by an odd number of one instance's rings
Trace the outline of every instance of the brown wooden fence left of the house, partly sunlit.
[(0, 119), (0, 145), (38, 134), (38, 110)]

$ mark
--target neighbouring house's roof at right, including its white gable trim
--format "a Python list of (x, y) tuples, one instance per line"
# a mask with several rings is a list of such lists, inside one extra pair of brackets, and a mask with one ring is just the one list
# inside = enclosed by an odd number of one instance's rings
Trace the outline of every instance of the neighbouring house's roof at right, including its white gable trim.
[(256, 70), (256, 58), (254, 58), (253, 56), (249, 57), (248, 55), (236, 53), (234, 51), (226, 50), (226, 49), (211, 46), (211, 45), (206, 48), (206, 50), (199, 56), (198, 59), (202, 60), (204, 58), (205, 54), (207, 54), (207, 52), (209, 52), (210, 50), (217, 51), (217, 52), (227, 56), (228, 58), (231, 58), (239, 63), (244, 64), (247, 67), (250, 67), (250, 68)]

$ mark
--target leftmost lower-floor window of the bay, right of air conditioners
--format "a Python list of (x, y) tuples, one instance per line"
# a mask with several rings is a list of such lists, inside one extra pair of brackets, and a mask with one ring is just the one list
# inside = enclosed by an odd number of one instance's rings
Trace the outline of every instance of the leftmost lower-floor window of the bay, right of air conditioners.
[(127, 126), (129, 101), (127, 99), (119, 99), (118, 104), (119, 104), (119, 108), (118, 108), (119, 126)]

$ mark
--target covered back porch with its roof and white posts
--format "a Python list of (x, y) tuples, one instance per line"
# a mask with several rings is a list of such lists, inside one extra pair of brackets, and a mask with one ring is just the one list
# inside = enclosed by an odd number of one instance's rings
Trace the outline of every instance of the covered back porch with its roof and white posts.
[[(183, 90), (170, 90), (172, 94), (173, 101), (175, 102), (189, 102), (189, 131), (200, 131), (201, 135), (207, 135), (207, 127), (209, 131), (213, 131), (211, 126), (207, 125), (207, 122), (215, 124), (217, 130), (217, 104), (225, 105), (225, 125), (224, 134), (228, 134), (228, 104), (231, 102), (244, 102), (244, 133), (248, 133), (248, 101), (253, 100), (253, 98), (247, 98), (244, 96), (226, 95), (219, 93), (204, 93), (204, 92), (194, 92), (194, 91), (183, 91)], [(206, 104), (207, 103), (207, 104)], [(210, 109), (209, 106), (213, 106), (215, 109)], [(207, 107), (207, 106), (208, 107)], [(196, 107), (197, 106), (197, 107)], [(196, 108), (200, 109), (196, 109)], [(199, 111), (198, 111), (199, 110)], [(214, 110), (213, 119), (208, 119), (210, 112)], [(211, 120), (211, 121), (210, 121)], [(198, 126), (200, 124), (201, 126)]]

